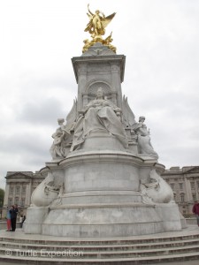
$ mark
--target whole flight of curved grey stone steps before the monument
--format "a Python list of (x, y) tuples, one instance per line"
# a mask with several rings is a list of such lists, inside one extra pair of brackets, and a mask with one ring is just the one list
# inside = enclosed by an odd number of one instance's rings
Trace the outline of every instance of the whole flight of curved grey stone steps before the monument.
[[(196, 231), (196, 233), (195, 233)], [(15, 264), (149, 264), (199, 260), (199, 234), (150, 235), (134, 239), (61, 239), (0, 236), (0, 261)], [(5, 233), (6, 234), (6, 233)], [(161, 234), (162, 235), (162, 234)], [(10, 255), (7, 254), (10, 251)], [(58, 254), (58, 255), (57, 255)], [(75, 254), (79, 254), (77, 257)], [(35, 261), (36, 260), (36, 261)]]

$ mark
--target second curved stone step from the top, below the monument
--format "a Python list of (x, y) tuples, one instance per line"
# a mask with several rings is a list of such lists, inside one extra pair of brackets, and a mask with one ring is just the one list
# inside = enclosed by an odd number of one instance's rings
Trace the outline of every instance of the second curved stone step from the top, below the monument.
[(167, 242), (153, 242), (153, 243), (140, 243), (140, 244), (121, 244), (121, 245), (70, 245), (70, 246), (60, 246), (55, 244), (54, 246), (49, 244), (32, 244), (19, 243), (19, 242), (7, 242), (0, 241), (0, 247), (5, 248), (19, 248), (19, 249), (47, 249), (47, 250), (65, 250), (65, 247), (73, 248), (75, 251), (115, 251), (115, 250), (147, 250), (147, 249), (157, 249), (157, 248), (166, 248), (166, 247), (176, 247), (176, 246), (197, 246), (199, 245), (199, 239), (183, 239), (176, 241), (167, 241)]

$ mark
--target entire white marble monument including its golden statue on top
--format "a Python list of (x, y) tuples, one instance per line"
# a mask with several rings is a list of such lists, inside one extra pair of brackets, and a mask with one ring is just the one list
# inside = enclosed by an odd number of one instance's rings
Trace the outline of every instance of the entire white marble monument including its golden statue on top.
[(73, 57), (77, 99), (53, 133), (47, 177), (34, 190), (26, 233), (114, 238), (180, 231), (180, 212), (160, 177), (145, 117), (135, 120), (122, 95), (125, 56), (105, 27), (115, 13), (88, 9), (83, 53)]

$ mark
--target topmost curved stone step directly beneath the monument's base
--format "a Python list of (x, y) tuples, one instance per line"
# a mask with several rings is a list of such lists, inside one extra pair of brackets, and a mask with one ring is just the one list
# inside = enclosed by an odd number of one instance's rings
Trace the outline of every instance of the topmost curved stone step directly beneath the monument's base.
[[(192, 230), (192, 231), (191, 231)], [(16, 237), (12, 237), (12, 233), (10, 232), (4, 232), (4, 235), (0, 234), (0, 243), (2, 241), (10, 242), (10, 243), (24, 243), (24, 244), (46, 244), (48, 242), (48, 245), (58, 245), (58, 246), (104, 246), (104, 245), (128, 245), (129, 244), (136, 244), (136, 245), (148, 245), (151, 244), (160, 244), (161, 242), (177, 242), (181, 240), (197, 240), (199, 239), (199, 230), (197, 227), (195, 228), (195, 225), (190, 225), (190, 229), (184, 230), (184, 231), (171, 231), (166, 233), (160, 233), (160, 234), (152, 234), (152, 235), (142, 235), (142, 236), (134, 236), (134, 237), (128, 237), (128, 238), (112, 238), (112, 239), (70, 239), (70, 238), (59, 238), (59, 237), (51, 237), (51, 236), (45, 236), (45, 235), (32, 235), (32, 234), (24, 234), (24, 232), (21, 229), (16, 230), (18, 235)], [(15, 231), (15, 232), (16, 232)], [(185, 234), (185, 232), (187, 232)], [(21, 235), (21, 237), (20, 237)], [(162, 236), (164, 235), (164, 236)], [(25, 237), (26, 236), (26, 237)]]

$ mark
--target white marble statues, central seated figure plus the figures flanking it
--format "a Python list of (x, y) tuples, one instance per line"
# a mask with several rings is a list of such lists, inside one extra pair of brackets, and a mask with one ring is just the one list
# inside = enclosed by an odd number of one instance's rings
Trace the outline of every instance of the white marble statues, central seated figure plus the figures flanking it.
[[(73, 108), (74, 110), (75, 108)], [(67, 123), (64, 125), (64, 118), (57, 120), (60, 126), (52, 134), (52, 138), (54, 139), (50, 148), (52, 158), (60, 159), (66, 157), (68, 147), (70, 147), (70, 151), (80, 148), (87, 135), (95, 131), (108, 132), (116, 136), (124, 148), (128, 148), (125, 125), (121, 122), (122, 115), (122, 110), (111, 101), (105, 99), (103, 88), (99, 87), (96, 92), (96, 99), (89, 102), (80, 111), (80, 116), (76, 117), (71, 125)], [(145, 117), (140, 117), (139, 123), (134, 122), (132, 125), (132, 130), (134, 130), (137, 137), (140, 154), (158, 157), (150, 143), (149, 131), (147, 130), (147, 126), (144, 125), (144, 120)]]

